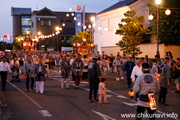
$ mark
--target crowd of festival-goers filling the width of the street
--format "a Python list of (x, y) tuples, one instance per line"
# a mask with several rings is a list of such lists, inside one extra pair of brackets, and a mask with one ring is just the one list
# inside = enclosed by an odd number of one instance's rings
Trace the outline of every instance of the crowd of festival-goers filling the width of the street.
[[(155, 55), (154, 59), (149, 59), (148, 55), (142, 58), (127, 57), (125, 54), (107, 56), (104, 52), (95, 56), (81, 55), (72, 52), (2, 52), (0, 62), (2, 89), (5, 90), (7, 73), (12, 75), (11, 82), (20, 82), (19, 75), (22, 73), (26, 79), (26, 88), (34, 90), (36, 82), (36, 92), (44, 92), (44, 81), (48, 76), (47, 66), (54, 69), (59, 68), (61, 78), (61, 89), (69, 89), (70, 80), (75, 82), (75, 88), (80, 88), (80, 80), (89, 80), (89, 102), (99, 101), (108, 103), (106, 99), (106, 76), (115, 72), (116, 81), (127, 79), (128, 88), (133, 88), (136, 98), (138, 98), (137, 113), (148, 109), (150, 114), (154, 110), (150, 108), (148, 99), (149, 93), (159, 92), (159, 104), (169, 106), (166, 103), (167, 89), (175, 79), (179, 94), (180, 82), (180, 58), (173, 60), (171, 52), (167, 52), (164, 59)], [(22, 70), (20, 66), (23, 66)], [(107, 73), (107, 71), (110, 71)], [(65, 85), (64, 85), (65, 83)], [(99, 98), (98, 98), (99, 90)], [(92, 94), (94, 92), (94, 100)], [(104, 102), (102, 101), (104, 97)]]

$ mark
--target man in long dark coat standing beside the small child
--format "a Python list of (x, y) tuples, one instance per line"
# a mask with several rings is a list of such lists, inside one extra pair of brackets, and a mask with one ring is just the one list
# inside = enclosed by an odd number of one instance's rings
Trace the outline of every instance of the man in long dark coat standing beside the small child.
[(97, 99), (97, 91), (98, 85), (101, 80), (101, 72), (99, 65), (97, 64), (97, 57), (93, 57), (93, 61), (89, 63), (88, 66), (88, 80), (89, 80), (89, 102), (93, 102), (92, 93), (94, 91), (94, 101), (98, 101)]

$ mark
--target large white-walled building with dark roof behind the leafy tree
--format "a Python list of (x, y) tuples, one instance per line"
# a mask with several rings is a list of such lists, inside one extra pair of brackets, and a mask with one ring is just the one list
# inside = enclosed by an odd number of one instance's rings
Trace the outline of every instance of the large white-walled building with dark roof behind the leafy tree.
[[(146, 28), (151, 27), (149, 21), (150, 10), (148, 8), (148, 0), (120, 0), (118, 3), (97, 14), (98, 19), (96, 21), (97, 26), (95, 27), (96, 32), (94, 44), (98, 51), (104, 51), (107, 55), (110, 55), (111, 53), (116, 55), (117, 52), (120, 52), (120, 47), (118, 47), (116, 43), (118, 43), (122, 38), (121, 36), (116, 35), (115, 32), (116, 29), (119, 28), (118, 24), (121, 23), (124, 13), (129, 10), (135, 10), (136, 16), (144, 16), (145, 23), (143, 26)], [(138, 57), (144, 57), (147, 54), (150, 58), (154, 58), (157, 51), (156, 43), (156, 36), (154, 36), (151, 31), (147, 33), (145, 42), (139, 46), (143, 53)], [(176, 56), (175, 58), (180, 56), (173, 48), (180, 50), (179, 47), (160, 44), (161, 57), (164, 57), (167, 51), (172, 51), (173, 55)]]

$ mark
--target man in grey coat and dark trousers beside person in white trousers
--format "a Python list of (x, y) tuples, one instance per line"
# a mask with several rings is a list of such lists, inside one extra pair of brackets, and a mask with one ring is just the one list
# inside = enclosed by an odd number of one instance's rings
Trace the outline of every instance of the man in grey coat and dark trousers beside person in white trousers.
[(23, 65), (23, 76), (26, 79), (27, 92), (29, 91), (29, 80), (31, 79), (31, 89), (34, 90), (34, 63), (31, 61), (31, 57), (28, 56), (27, 61)]

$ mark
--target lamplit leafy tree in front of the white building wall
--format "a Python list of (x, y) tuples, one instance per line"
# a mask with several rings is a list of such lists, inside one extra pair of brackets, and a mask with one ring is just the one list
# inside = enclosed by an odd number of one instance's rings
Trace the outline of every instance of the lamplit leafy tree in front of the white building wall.
[(148, 31), (142, 26), (145, 22), (144, 16), (135, 17), (135, 14), (134, 10), (124, 13), (125, 18), (121, 19), (119, 29), (116, 30), (116, 34), (122, 36), (122, 40), (117, 43), (120, 50), (133, 58), (142, 53), (138, 45), (143, 41), (143, 35)]

